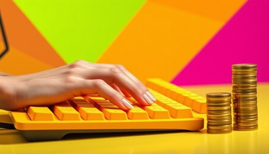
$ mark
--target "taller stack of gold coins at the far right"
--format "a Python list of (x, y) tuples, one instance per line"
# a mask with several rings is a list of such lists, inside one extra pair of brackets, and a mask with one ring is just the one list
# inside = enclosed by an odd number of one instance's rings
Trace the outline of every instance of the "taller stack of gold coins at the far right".
[(258, 129), (257, 65), (232, 65), (234, 130)]

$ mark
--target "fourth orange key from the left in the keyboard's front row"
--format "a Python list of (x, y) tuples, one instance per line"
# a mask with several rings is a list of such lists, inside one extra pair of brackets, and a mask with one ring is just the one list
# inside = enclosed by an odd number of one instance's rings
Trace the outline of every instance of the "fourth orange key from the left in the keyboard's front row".
[(107, 120), (127, 120), (126, 112), (119, 109), (116, 105), (110, 103), (109, 101), (96, 102), (92, 100), (94, 106), (104, 113), (104, 117)]

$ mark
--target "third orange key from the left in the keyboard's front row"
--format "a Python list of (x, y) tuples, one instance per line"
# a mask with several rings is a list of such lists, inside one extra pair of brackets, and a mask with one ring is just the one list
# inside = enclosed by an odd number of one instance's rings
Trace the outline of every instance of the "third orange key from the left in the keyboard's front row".
[(69, 101), (68, 102), (84, 120), (105, 120), (104, 114), (95, 108), (92, 104), (88, 103), (86, 100), (83, 101)]

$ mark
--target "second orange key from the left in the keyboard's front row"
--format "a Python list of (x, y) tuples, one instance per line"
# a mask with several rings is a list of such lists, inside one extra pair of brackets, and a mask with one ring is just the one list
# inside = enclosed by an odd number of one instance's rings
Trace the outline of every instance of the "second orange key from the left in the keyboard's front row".
[(52, 105), (51, 108), (60, 120), (81, 120), (80, 114), (66, 101)]

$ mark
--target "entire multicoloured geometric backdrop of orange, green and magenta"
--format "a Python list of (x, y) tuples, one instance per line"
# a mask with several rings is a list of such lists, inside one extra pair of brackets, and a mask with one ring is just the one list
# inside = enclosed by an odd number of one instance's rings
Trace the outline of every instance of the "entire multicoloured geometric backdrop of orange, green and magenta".
[(0, 0), (0, 9), (2, 72), (82, 59), (122, 64), (142, 82), (198, 85), (231, 83), (232, 64), (255, 63), (258, 82), (269, 81), (269, 0)]

